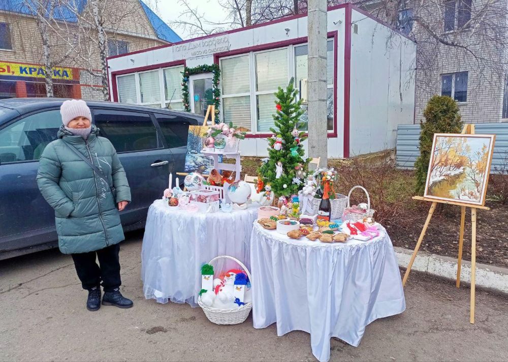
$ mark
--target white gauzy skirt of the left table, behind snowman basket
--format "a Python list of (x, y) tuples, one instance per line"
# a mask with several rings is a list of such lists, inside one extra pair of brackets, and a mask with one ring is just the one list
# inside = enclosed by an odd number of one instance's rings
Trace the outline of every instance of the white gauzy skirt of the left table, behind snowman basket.
[[(154, 201), (148, 209), (141, 249), (145, 298), (196, 307), (204, 263), (218, 255), (230, 255), (249, 268), (249, 238), (257, 215), (255, 204), (232, 213), (203, 214)], [(214, 267), (217, 272), (238, 265), (224, 260)]]

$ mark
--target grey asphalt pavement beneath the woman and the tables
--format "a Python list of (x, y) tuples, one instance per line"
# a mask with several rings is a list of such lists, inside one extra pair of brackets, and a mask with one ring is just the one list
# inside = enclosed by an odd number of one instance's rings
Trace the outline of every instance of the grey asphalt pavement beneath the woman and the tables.
[[(0, 360), (312, 361), (310, 336), (277, 337), (275, 325), (210, 323), (199, 308), (145, 300), (142, 233), (122, 244), (122, 292), (134, 308), (85, 309), (72, 259), (49, 250), (0, 261)], [(469, 288), (412, 274), (407, 309), (367, 326), (359, 347), (331, 342), (331, 360), (508, 360), (508, 298), (477, 291), (469, 324)]]

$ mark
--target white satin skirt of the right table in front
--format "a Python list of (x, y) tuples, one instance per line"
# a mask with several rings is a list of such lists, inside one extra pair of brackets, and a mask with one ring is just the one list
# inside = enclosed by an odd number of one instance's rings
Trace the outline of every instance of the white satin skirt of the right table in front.
[(291, 239), (255, 224), (250, 238), (255, 328), (310, 333), (312, 353), (330, 359), (330, 338), (358, 346), (365, 326), (405, 309), (399, 267), (383, 230), (369, 242)]

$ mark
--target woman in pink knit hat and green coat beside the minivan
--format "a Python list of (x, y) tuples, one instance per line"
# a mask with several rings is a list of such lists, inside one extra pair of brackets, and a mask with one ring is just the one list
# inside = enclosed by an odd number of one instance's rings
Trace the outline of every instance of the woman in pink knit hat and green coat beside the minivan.
[(125, 171), (111, 142), (91, 125), (84, 101), (63, 102), (60, 114), (58, 139), (44, 149), (37, 174), (39, 189), (55, 210), (58, 247), (74, 260), (88, 290), (89, 311), (101, 308), (101, 281), (102, 305), (131, 308), (132, 300), (119, 290), (118, 243), (124, 239), (119, 212), (131, 201)]

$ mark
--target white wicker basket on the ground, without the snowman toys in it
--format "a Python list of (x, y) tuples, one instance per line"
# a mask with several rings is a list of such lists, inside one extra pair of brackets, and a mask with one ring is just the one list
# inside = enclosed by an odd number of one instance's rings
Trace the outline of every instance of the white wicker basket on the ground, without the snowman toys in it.
[[(238, 265), (240, 265), (243, 268), (243, 270), (245, 270), (245, 273), (247, 273), (247, 276), (249, 277), (250, 283), (252, 283), (252, 277), (250, 276), (250, 272), (240, 260), (229, 255), (220, 255), (210, 260), (209, 264), (213, 263), (215, 260), (218, 259), (231, 259), (235, 261)], [(201, 307), (201, 309), (203, 309), (203, 312), (205, 312), (205, 315), (208, 318), (208, 320), (215, 324), (243, 323), (245, 319), (247, 319), (247, 317), (249, 316), (250, 311), (252, 310), (251, 301), (245, 303), (243, 306), (240, 306), (239, 308), (233, 309), (218, 309), (208, 307), (201, 303), (201, 296), (198, 297), (198, 305)]]

